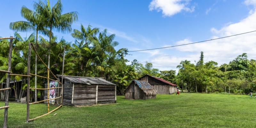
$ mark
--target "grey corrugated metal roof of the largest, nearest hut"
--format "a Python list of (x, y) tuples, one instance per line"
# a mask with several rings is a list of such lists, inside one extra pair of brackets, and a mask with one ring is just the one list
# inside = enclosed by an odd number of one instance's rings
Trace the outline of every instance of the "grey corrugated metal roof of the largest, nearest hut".
[[(57, 75), (61, 77), (62, 75)], [(104, 78), (100, 77), (81, 77), (81, 76), (63, 76), (63, 79), (69, 80), (72, 83), (78, 83), (78, 84), (103, 84), (103, 85), (116, 85), (113, 84)]]

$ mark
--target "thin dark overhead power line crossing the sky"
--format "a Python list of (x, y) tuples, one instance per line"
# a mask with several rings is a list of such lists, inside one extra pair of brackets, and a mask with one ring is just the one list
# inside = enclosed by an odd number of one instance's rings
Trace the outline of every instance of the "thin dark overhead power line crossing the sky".
[[(245, 32), (245, 33), (240, 33), (236, 35), (231, 35), (231, 36), (238, 36), (238, 35), (243, 35), (251, 32), (256, 32), (255, 31), (250, 31), (250, 32)], [(204, 41), (199, 41), (199, 42), (194, 42), (194, 43), (188, 43), (188, 44), (196, 44), (196, 43), (202, 43), (202, 42), (207, 42), (207, 41), (212, 41), (212, 40), (218, 40), (218, 39), (223, 39), (231, 36), (225, 36), (225, 37), (220, 37), (220, 38), (215, 38), (215, 39), (210, 39), (210, 40), (204, 40)], [(152, 49), (144, 49), (144, 50), (135, 50), (135, 51), (127, 51), (127, 52), (138, 52), (138, 51), (147, 51), (147, 50), (156, 50), (156, 49), (163, 49), (163, 48), (171, 48), (171, 47), (177, 47), (177, 46), (183, 46), (183, 45), (188, 45), (188, 44), (180, 44), (180, 45), (174, 45), (174, 46), (168, 46), (168, 47), (161, 47), (161, 48), (152, 48)]]

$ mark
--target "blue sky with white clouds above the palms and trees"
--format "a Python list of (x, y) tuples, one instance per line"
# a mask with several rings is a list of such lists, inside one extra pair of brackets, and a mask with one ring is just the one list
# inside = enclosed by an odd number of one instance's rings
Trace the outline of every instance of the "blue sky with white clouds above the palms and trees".
[[(55, 3), (52, 0), (51, 3)], [(116, 49), (142, 50), (230, 36), (256, 30), (256, 0), (62, 0), (64, 13), (77, 11), (80, 25), (108, 29), (116, 34), (120, 44)], [(0, 36), (13, 36), (9, 23), (24, 20), (21, 6), (32, 9), (33, 1), (2, 1), (0, 8)], [(70, 34), (60, 34), (74, 41)], [(26, 37), (27, 33), (21, 33)], [(140, 63), (152, 62), (160, 70), (177, 70), (181, 60), (199, 60), (204, 52), (205, 61), (228, 63), (242, 53), (256, 59), (256, 32), (191, 44), (175, 48), (130, 52), (127, 59)]]

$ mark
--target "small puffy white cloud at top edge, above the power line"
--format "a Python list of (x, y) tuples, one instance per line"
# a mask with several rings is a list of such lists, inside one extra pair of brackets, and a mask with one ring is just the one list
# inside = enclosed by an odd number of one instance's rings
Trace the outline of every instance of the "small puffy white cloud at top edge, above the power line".
[(149, 10), (162, 11), (164, 16), (172, 16), (181, 11), (194, 12), (195, 6), (188, 7), (190, 0), (152, 0)]

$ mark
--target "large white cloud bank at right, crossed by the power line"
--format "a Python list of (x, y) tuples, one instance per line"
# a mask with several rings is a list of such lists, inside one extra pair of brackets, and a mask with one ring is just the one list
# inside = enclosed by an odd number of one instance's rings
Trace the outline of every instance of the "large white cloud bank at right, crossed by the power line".
[[(249, 15), (247, 18), (240, 22), (229, 24), (221, 29), (212, 28), (213, 38), (230, 36), (239, 33), (249, 32), (256, 30), (256, 12)], [(209, 60), (217, 61), (219, 64), (228, 63), (233, 60), (236, 56), (242, 53), (248, 53), (249, 58), (256, 58), (256, 32), (228, 37), (219, 40), (212, 40), (205, 43), (184, 45), (176, 47), (177, 50), (182, 52), (191, 52), (191, 54), (204, 52), (205, 58)], [(194, 42), (194, 41), (193, 41)], [(196, 42), (196, 41), (195, 41)], [(178, 41), (176, 44), (187, 44), (192, 43), (189, 39)], [(190, 58), (190, 56), (186, 58)]]

